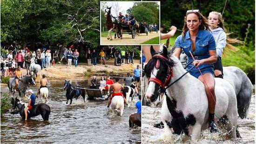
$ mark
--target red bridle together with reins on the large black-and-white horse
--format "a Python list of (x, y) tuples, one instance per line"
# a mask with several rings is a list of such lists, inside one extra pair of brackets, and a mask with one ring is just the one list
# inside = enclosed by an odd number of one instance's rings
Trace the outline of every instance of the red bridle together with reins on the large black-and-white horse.
[[(171, 59), (169, 58), (166, 58), (164, 56), (162, 56), (161, 54), (155, 54), (152, 59), (158, 59), (156, 61), (156, 64), (155, 64), (155, 68), (158, 69), (159, 66), (160, 66), (160, 62), (159, 62), (159, 59), (162, 59), (164, 61), (170, 61)], [(168, 63), (167, 63), (168, 65)], [(172, 82), (171, 84), (170, 83), (170, 80), (171, 78), (173, 77), (173, 69), (172, 69), (172, 66), (171, 65), (168, 65), (168, 70), (167, 70), (167, 76), (165, 78), (165, 81), (164, 83), (162, 83), (161, 80), (157, 79), (157, 78), (149, 78), (148, 79), (148, 83), (149, 82), (154, 82), (155, 84), (159, 85), (160, 86), (160, 89), (158, 91), (158, 95), (160, 95), (161, 93), (164, 93), (165, 95), (167, 95), (166, 93), (166, 89), (168, 89), (170, 86), (174, 85), (175, 82), (177, 82), (178, 80), (182, 79), (182, 77), (184, 77), (188, 72), (190, 72), (193, 68), (195, 67), (192, 66), (187, 72), (185, 72), (184, 74), (182, 74), (182, 76), (180, 76), (178, 79), (176, 79), (174, 82)]]

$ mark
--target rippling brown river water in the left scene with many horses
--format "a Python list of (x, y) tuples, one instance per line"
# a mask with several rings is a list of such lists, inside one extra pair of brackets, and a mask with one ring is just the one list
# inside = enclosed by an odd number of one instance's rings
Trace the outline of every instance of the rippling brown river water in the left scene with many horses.
[[(73, 99), (72, 105), (66, 105), (64, 81), (51, 81), (49, 102), (51, 107), (49, 121), (41, 116), (23, 121), (20, 114), (4, 114), (1, 118), (2, 144), (130, 144), (141, 142), (141, 129), (129, 130), (129, 115), (136, 112), (135, 102), (124, 114), (108, 114), (108, 101), (83, 102), (80, 97)], [(87, 85), (88, 80), (73, 80), (74, 84)], [(37, 85), (38, 86), (38, 85)], [(34, 92), (38, 87), (31, 87)], [(1, 92), (8, 89), (1, 88)], [(18, 95), (18, 94), (17, 94)], [(137, 97), (134, 101), (137, 101)]]

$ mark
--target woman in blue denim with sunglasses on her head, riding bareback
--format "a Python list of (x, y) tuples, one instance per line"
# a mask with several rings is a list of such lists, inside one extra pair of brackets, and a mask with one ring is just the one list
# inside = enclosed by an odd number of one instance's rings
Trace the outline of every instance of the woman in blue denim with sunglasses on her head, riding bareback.
[[(174, 55), (179, 59), (182, 50), (189, 57), (191, 63), (187, 70), (193, 65), (195, 67), (189, 72), (195, 78), (201, 80), (205, 85), (209, 101), (209, 129), (210, 132), (216, 132), (217, 127), (214, 121), (216, 95), (214, 91), (214, 66), (216, 62), (216, 44), (213, 35), (210, 33), (207, 19), (199, 13), (199, 10), (187, 11), (183, 33), (175, 41)], [(193, 60), (190, 52), (193, 54)], [(201, 70), (202, 75), (197, 67)], [(204, 81), (205, 80), (205, 81)]]

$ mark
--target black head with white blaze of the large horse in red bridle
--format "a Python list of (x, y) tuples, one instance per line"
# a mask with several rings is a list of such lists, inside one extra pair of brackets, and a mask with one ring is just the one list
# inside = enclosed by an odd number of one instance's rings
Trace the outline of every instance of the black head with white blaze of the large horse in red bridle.
[(152, 59), (145, 65), (144, 72), (149, 78), (148, 89), (145, 94), (148, 101), (154, 102), (160, 93), (165, 92), (165, 87), (172, 78), (174, 61), (169, 58), (166, 46), (161, 52), (156, 53), (153, 46), (150, 47)]

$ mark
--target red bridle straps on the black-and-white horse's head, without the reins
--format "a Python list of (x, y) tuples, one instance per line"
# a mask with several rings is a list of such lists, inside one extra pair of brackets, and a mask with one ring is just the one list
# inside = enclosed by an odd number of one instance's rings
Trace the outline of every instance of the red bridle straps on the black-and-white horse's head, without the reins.
[[(162, 56), (160, 54), (156, 54), (152, 58), (159, 58), (159, 59), (163, 59), (163, 60), (169, 60), (169, 59), (165, 58), (164, 56)], [(160, 63), (159, 63), (159, 61), (157, 61), (156, 65), (155, 65), (155, 68), (158, 69), (159, 66), (160, 66)], [(162, 83), (162, 81), (157, 79), (157, 78), (149, 78), (148, 83), (152, 81), (152, 82), (160, 85), (162, 88), (165, 88), (168, 85), (168, 83), (170, 82), (172, 77), (173, 77), (172, 67), (168, 67), (167, 79), (165, 79), (164, 83)]]

